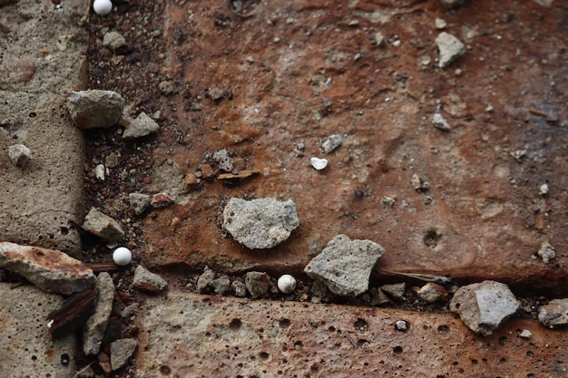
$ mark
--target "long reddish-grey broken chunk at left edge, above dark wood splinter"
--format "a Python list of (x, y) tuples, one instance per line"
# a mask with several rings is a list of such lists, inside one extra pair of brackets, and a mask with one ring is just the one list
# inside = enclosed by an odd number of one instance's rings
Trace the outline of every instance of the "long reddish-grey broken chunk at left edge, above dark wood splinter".
[(63, 252), (0, 242), (0, 267), (24, 276), (40, 289), (69, 296), (92, 288), (93, 270)]

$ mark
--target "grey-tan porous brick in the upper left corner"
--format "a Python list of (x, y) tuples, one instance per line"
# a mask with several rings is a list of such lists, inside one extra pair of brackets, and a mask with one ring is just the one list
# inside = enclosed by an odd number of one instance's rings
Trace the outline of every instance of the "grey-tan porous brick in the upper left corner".
[[(84, 217), (84, 141), (64, 106), (64, 93), (86, 89), (88, 33), (81, 26), (88, 0), (20, 1), (3, 7), (0, 24), (0, 240), (61, 250), (81, 257), (74, 224)], [(36, 71), (27, 82), (13, 73), (27, 60)], [(21, 143), (33, 159), (15, 167), (10, 145)]]

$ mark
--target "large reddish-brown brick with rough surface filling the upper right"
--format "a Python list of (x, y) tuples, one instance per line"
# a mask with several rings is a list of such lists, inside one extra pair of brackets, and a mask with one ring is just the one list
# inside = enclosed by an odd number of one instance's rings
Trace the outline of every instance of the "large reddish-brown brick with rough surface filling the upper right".
[[(379, 269), (568, 289), (561, 2), (244, 3), (166, 6), (166, 53), (151, 77), (174, 91), (152, 92), (162, 130), (143, 191), (213, 176), (144, 218), (144, 264), (299, 272), (342, 233), (385, 247)], [(466, 45), (445, 70), (436, 17)], [(224, 94), (213, 100), (213, 90)], [(433, 127), (436, 111), (452, 131)], [(343, 144), (313, 170), (309, 158), (324, 157), (333, 133)], [(221, 149), (262, 174), (215, 179), (207, 153)], [(416, 190), (414, 175), (429, 189)], [(301, 225), (283, 245), (250, 251), (220, 228), (231, 197), (292, 199)], [(556, 250), (548, 265), (532, 258), (544, 241)]]

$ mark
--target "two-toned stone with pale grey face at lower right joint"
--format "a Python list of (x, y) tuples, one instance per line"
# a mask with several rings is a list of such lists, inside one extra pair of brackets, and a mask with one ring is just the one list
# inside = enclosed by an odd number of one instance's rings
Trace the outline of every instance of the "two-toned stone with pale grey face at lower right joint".
[(450, 301), (450, 310), (472, 331), (486, 336), (514, 315), (519, 305), (508, 286), (484, 281), (460, 287)]

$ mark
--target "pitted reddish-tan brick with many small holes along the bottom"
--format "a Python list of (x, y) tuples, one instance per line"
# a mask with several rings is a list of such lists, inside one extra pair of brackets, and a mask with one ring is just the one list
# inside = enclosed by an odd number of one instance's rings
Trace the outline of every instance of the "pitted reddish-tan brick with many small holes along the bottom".
[(536, 320), (482, 337), (447, 314), (177, 292), (142, 305), (138, 325), (138, 378), (557, 376), (568, 359), (564, 334)]

